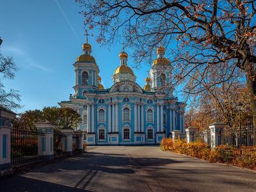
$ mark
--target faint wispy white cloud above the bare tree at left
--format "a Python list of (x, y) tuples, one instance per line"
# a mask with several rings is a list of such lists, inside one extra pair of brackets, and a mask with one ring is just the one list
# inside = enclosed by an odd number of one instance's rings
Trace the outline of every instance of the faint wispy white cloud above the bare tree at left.
[(22, 58), (24, 63), (28, 64), (32, 68), (36, 68), (38, 70), (42, 70), (44, 72), (52, 72), (50, 68), (45, 67), (44, 65), (40, 63), (36, 63), (33, 58), (29, 54), (27, 54), (24, 49), (20, 49), (19, 47), (16, 46), (5, 46), (3, 48), (4, 52), (8, 52), (11, 55), (16, 55)]

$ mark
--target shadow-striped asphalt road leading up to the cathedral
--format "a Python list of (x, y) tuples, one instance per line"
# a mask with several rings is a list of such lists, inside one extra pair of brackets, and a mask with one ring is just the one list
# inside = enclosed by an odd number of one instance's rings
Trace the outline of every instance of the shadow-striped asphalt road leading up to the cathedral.
[(256, 173), (159, 147), (93, 147), (0, 179), (0, 191), (256, 191)]

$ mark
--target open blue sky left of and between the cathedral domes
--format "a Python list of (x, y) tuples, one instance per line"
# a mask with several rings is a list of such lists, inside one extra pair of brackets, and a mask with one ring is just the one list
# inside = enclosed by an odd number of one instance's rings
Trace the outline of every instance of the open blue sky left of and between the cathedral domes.
[[(85, 42), (83, 16), (79, 4), (72, 0), (1, 0), (0, 36), (1, 52), (12, 56), (19, 71), (15, 79), (4, 80), (6, 90), (19, 90), (21, 104), (16, 112), (57, 106), (74, 93), (73, 63), (82, 54)], [(111, 76), (119, 65), (118, 54), (122, 40), (101, 46), (89, 37), (92, 56), (100, 68), (105, 88), (113, 83)], [(130, 53), (131, 51), (125, 50)], [(132, 58), (129, 58), (132, 67)], [(134, 69), (136, 82), (144, 85), (148, 65)]]

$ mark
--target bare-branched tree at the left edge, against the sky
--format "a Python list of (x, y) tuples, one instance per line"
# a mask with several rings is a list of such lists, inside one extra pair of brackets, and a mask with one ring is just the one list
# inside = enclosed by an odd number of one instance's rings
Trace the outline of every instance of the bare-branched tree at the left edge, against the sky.
[[(4, 57), (0, 53), (0, 77), (6, 79), (13, 79), (15, 77), (14, 72), (17, 71), (17, 67), (10, 57)], [(4, 85), (0, 81), (0, 106), (6, 109), (20, 108), (20, 95), (16, 90), (10, 90), (6, 92)]]

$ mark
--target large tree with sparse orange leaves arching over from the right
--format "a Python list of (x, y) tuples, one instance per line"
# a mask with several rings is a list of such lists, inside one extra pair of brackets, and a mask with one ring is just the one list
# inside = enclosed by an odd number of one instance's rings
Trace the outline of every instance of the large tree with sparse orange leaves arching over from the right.
[(121, 31), (126, 44), (134, 47), (138, 65), (152, 56), (159, 42), (168, 46), (176, 67), (176, 83), (193, 79), (193, 86), (184, 88), (188, 95), (202, 92), (204, 89), (198, 84), (216, 69), (227, 71), (223, 79), (209, 82), (208, 88), (241, 70), (256, 127), (255, 1), (76, 1), (84, 6), (81, 13), (86, 28), (99, 31), (97, 41), (111, 44)]

